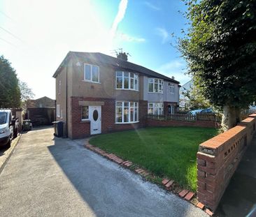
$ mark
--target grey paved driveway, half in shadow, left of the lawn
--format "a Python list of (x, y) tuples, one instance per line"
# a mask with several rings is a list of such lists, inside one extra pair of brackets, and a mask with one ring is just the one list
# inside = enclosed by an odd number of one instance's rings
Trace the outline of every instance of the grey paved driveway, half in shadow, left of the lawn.
[(0, 216), (207, 216), (52, 128), (22, 135), (0, 174)]

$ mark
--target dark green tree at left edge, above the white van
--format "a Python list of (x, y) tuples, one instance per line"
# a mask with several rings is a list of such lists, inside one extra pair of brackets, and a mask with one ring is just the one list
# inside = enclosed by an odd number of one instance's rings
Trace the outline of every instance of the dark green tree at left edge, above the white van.
[(20, 87), (15, 69), (8, 59), (0, 57), (0, 107), (20, 106)]

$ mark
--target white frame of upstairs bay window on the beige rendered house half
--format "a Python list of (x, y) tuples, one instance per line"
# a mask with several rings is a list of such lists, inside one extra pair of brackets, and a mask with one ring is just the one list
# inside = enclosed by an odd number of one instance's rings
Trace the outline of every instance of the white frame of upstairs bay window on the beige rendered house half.
[[(122, 73), (122, 75), (118, 75), (118, 73)], [(128, 73), (128, 77), (125, 76), (125, 73)], [(131, 75), (133, 75), (133, 77)], [(125, 77), (128, 78), (128, 81), (129, 81), (128, 88), (125, 88)], [(122, 78), (122, 87), (121, 88), (118, 88), (118, 78)], [(134, 86), (133, 88), (131, 88), (131, 83)], [(120, 70), (115, 72), (115, 89), (139, 91), (138, 83), (139, 83), (139, 77), (138, 77), (138, 74), (136, 74), (136, 73), (129, 73), (129, 72), (120, 71)]]

